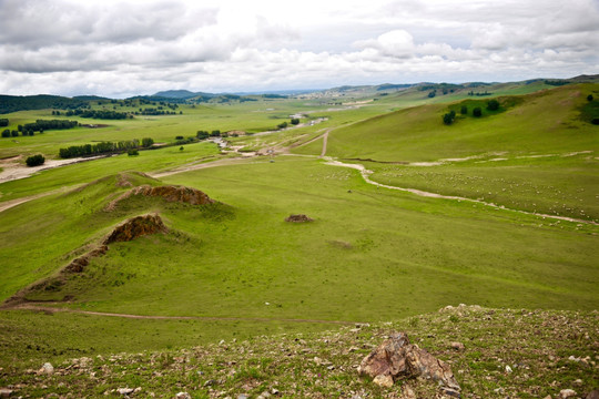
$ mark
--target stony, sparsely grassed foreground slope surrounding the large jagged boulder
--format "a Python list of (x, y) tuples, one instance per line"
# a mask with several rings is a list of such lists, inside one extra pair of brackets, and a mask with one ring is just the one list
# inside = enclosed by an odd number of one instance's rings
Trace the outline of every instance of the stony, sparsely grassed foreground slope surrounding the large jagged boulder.
[[(423, 376), (361, 376), (363, 360), (397, 331), (450, 367), (459, 389), (444, 390)], [(599, 398), (598, 362), (597, 310), (460, 305), (318, 335), (1, 365), (0, 397)]]

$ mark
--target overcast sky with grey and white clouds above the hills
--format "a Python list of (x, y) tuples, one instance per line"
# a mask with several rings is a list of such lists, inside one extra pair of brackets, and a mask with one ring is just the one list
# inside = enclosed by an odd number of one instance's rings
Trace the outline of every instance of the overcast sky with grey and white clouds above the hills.
[(0, 0), (0, 93), (126, 98), (599, 73), (599, 0)]

